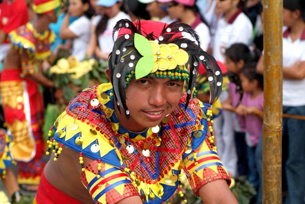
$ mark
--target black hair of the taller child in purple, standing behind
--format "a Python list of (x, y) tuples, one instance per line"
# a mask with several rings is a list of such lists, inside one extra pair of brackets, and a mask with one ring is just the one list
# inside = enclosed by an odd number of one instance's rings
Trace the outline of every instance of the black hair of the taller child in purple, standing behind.
[(243, 43), (235, 43), (231, 45), (225, 53), (235, 63), (241, 59), (246, 63), (252, 58), (248, 46)]

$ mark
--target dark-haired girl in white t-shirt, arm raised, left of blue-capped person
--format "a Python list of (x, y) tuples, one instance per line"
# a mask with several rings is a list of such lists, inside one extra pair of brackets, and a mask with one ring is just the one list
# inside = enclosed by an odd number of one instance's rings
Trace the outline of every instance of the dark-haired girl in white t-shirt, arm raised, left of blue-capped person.
[[(62, 39), (72, 39), (71, 55), (78, 60), (85, 58), (85, 51), (90, 40), (90, 18), (94, 10), (89, 0), (70, 0), (68, 13), (65, 15), (59, 36)], [(69, 17), (79, 17), (69, 25)]]

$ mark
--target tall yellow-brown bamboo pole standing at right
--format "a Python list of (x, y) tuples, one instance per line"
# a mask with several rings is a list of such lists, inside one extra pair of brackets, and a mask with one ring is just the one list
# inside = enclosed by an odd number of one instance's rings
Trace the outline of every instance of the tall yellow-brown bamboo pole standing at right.
[(282, 202), (283, 1), (263, 0), (263, 203)]

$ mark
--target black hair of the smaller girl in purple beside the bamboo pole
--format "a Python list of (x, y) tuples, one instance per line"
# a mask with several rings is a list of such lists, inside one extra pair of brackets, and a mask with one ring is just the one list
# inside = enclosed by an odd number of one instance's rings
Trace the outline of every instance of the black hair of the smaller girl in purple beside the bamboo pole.
[(264, 77), (256, 72), (256, 62), (248, 62), (242, 68), (241, 73), (249, 79), (249, 81), (257, 80), (258, 87), (264, 90)]

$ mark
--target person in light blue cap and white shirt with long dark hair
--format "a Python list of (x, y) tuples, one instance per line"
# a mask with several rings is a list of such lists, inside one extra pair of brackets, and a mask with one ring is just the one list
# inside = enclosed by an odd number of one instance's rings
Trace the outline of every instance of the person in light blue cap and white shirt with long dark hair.
[[(95, 54), (97, 59), (108, 60), (113, 48), (112, 29), (120, 19), (130, 19), (121, 11), (121, 0), (99, 0), (97, 6), (101, 6), (103, 15), (97, 15), (92, 20), (91, 38), (86, 51), (89, 58)], [(115, 36), (116, 38), (116, 36)]]

